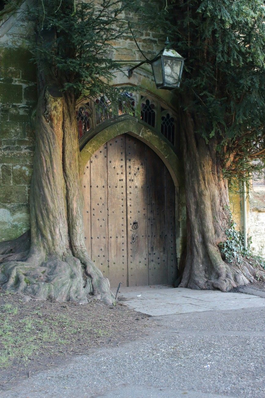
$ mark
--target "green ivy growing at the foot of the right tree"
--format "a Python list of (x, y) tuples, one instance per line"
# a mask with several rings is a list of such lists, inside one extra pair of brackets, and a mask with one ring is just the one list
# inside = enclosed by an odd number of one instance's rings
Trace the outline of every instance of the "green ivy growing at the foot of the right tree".
[[(236, 230), (236, 223), (232, 219), (230, 210), (228, 214), (228, 228), (225, 230), (227, 240), (219, 244), (222, 258), (228, 263), (236, 263), (238, 266), (241, 266), (247, 260), (253, 267), (265, 269), (265, 259), (261, 256), (255, 256), (250, 249), (251, 236), (248, 238), (248, 247), (244, 248), (244, 236), (241, 231)], [(256, 277), (260, 279), (259, 273), (256, 274)]]

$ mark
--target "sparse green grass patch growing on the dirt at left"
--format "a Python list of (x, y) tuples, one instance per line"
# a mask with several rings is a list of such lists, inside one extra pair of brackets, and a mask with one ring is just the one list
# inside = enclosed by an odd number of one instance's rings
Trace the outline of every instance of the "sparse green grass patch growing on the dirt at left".
[[(27, 362), (31, 355), (40, 349), (45, 350), (46, 344), (70, 345), (80, 333), (86, 333), (91, 328), (87, 321), (73, 323), (70, 316), (59, 314), (43, 317), (37, 310), (29, 316), (19, 318), (17, 307), (12, 304), (2, 306), (0, 314), (0, 368), (6, 368), (12, 361)], [(104, 336), (104, 330), (94, 330), (94, 334)]]

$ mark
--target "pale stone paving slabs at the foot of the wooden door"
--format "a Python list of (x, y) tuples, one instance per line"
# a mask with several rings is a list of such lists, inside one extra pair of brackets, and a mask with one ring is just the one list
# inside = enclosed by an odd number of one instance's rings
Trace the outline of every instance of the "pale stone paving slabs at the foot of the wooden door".
[(168, 285), (121, 287), (121, 304), (151, 316), (265, 306), (265, 298), (217, 290), (192, 290)]

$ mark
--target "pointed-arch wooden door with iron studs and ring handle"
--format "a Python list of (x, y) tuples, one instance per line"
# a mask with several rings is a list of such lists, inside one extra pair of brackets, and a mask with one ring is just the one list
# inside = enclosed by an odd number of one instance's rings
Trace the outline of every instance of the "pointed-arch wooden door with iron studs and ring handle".
[(111, 287), (174, 283), (175, 187), (153, 150), (126, 134), (108, 141), (85, 167), (83, 194), (86, 247)]

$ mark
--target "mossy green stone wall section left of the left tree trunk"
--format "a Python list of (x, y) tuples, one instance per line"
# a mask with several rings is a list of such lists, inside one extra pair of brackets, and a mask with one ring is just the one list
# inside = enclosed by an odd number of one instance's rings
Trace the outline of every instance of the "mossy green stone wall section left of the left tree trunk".
[(0, 48), (0, 240), (29, 229), (36, 68), (23, 48)]

